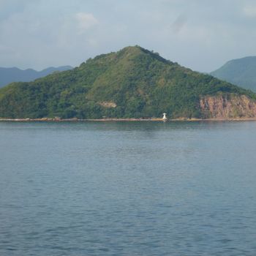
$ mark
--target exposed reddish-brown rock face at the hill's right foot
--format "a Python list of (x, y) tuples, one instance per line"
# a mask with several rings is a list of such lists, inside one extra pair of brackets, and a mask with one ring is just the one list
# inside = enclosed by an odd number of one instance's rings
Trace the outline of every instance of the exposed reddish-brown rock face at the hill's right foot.
[(245, 95), (208, 96), (200, 99), (205, 118), (255, 118), (256, 101)]

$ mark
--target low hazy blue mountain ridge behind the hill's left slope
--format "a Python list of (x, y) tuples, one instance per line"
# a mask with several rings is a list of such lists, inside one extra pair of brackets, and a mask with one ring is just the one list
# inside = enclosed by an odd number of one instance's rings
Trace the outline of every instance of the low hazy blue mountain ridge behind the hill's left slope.
[(34, 69), (18, 69), (18, 67), (0, 67), (0, 87), (12, 82), (30, 82), (37, 78), (45, 77), (56, 71), (66, 71), (71, 66), (48, 67), (41, 71)]

